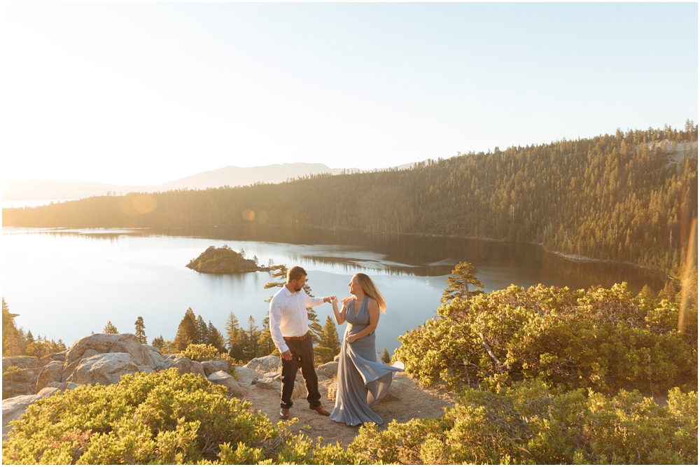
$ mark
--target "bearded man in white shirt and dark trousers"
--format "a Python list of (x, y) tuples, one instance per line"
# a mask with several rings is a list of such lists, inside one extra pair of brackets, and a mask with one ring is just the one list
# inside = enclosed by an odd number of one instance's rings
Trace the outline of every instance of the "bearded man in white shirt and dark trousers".
[(282, 396), (279, 417), (289, 418), (292, 407), (292, 391), (297, 370), (301, 367), (309, 395), (309, 409), (328, 417), (330, 412), (321, 405), (318, 392), (318, 377), (314, 368), (314, 343), (309, 335), (307, 307), (323, 302), (330, 303), (333, 297), (309, 297), (304, 291), (307, 273), (300, 266), (287, 271), (287, 283), (274, 294), (269, 302), (269, 332), (282, 355)]

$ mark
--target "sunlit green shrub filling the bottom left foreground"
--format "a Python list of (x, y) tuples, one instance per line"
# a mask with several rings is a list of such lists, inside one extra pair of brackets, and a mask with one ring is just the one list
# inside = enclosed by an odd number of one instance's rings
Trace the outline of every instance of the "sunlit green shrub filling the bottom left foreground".
[(175, 368), (58, 393), (12, 425), (3, 463), (353, 463)]

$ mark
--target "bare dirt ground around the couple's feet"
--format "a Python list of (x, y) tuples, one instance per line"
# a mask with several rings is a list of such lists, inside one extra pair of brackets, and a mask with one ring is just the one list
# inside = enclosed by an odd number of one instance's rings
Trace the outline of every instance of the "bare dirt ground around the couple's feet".
[[(328, 399), (328, 386), (335, 382), (335, 379), (325, 379), (318, 382), (318, 389), (321, 391), (321, 403), (329, 412), (333, 410), (334, 400)], [(323, 437), (323, 444), (335, 444), (339, 441), (346, 447), (358, 434), (358, 426), (346, 426), (345, 424), (332, 421), (328, 417), (323, 417), (314, 410), (309, 409), (306, 400), (306, 391), (300, 398), (294, 399), (294, 406), (289, 410), (289, 419), (296, 417), (299, 419), (292, 426), (296, 432), (302, 431), (316, 440), (318, 436)], [(257, 386), (250, 386), (248, 389), (249, 400), (253, 407), (267, 414), (274, 423), (281, 420), (279, 418), (279, 392), (272, 389), (260, 389)], [(444, 390), (444, 387), (437, 384), (430, 388), (422, 388), (418, 382), (405, 372), (394, 375), (393, 382), (384, 399), (372, 407), (377, 412), (384, 423), (379, 425), (379, 430), (386, 429), (388, 422), (396, 420), (400, 423), (414, 418), (435, 418), (443, 413), (443, 407), (454, 405), (454, 397)]]

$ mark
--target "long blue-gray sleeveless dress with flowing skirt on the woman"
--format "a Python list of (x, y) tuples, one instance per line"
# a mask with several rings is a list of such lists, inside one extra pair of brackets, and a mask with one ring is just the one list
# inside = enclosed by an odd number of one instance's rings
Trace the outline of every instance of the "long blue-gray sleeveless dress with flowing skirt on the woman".
[(393, 372), (402, 371), (401, 368), (384, 365), (377, 361), (374, 331), (352, 344), (347, 342), (349, 335), (359, 333), (370, 324), (370, 313), (367, 311), (368, 300), (369, 297), (365, 295), (357, 316), (355, 316), (354, 298), (345, 312), (348, 325), (340, 347), (338, 389), (330, 419), (348, 425), (359, 425), (368, 421), (381, 424), (381, 417), (370, 407), (386, 394), (391, 385)]

